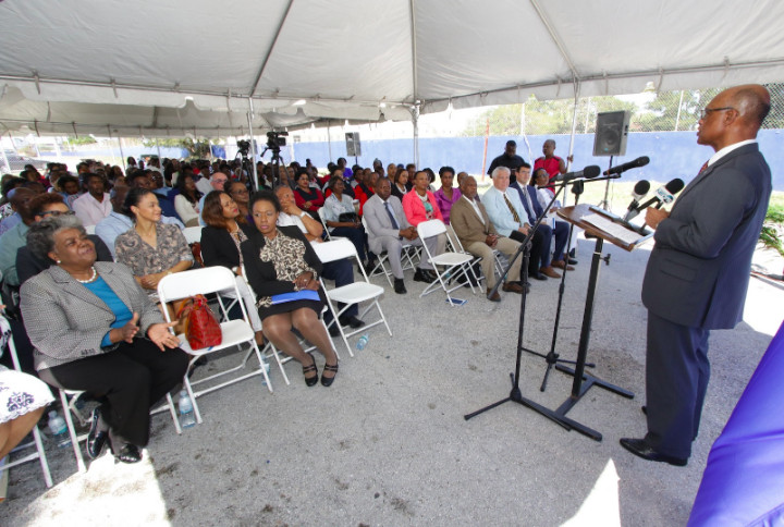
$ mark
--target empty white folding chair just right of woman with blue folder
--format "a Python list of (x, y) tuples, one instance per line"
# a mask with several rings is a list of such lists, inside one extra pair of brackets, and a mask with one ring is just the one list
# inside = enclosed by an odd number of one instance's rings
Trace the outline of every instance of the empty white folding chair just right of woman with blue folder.
[[(314, 250), (316, 250), (316, 255), (323, 264), (341, 260), (343, 258), (354, 258), (357, 264), (359, 262), (359, 255), (357, 255), (356, 247), (354, 247), (354, 244), (351, 243), (351, 241), (348, 240), (341, 238), (334, 240), (332, 242), (315, 244)], [(392, 336), (392, 330), (390, 329), (389, 323), (387, 323), (387, 318), (381, 310), (381, 304), (379, 304), (378, 302), (379, 297), (383, 294), (383, 287), (371, 284), (370, 280), (368, 280), (365, 269), (362, 266), (359, 266), (359, 270), (365, 278), (364, 282), (354, 282), (342, 285), (340, 287), (335, 287), (333, 290), (328, 290), (323, 279), (319, 278), (319, 280), (321, 281), (321, 287), (323, 287), (324, 293), (327, 294), (327, 303), (329, 304), (330, 309), (332, 309), (332, 315), (334, 315), (329, 326), (332, 326), (333, 323), (338, 326), (341, 338), (343, 339), (343, 343), (345, 343), (345, 346), (348, 350), (348, 355), (351, 355), (352, 357), (354, 356), (354, 352), (348, 345), (350, 336), (362, 333), (365, 330), (380, 323), (383, 323), (387, 327), (387, 332), (390, 334), (390, 336)], [(375, 322), (368, 323), (365, 327), (356, 329), (348, 333), (343, 331), (343, 327), (340, 324), (339, 321), (340, 316), (352, 305), (367, 301), (372, 302), (365, 308), (364, 311), (362, 311), (359, 318), (365, 318), (365, 315), (367, 315), (368, 311), (373, 307), (378, 309), (379, 316), (381, 318), (379, 320), (376, 320)], [(338, 310), (335, 305), (336, 303), (344, 304), (343, 309)]]

